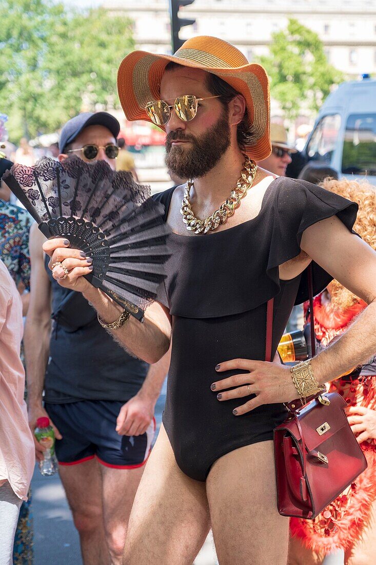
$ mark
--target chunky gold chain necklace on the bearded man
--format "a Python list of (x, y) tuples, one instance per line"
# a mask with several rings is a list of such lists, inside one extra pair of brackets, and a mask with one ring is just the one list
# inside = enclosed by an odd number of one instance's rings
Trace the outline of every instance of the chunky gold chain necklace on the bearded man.
[(192, 179), (187, 182), (187, 188), (184, 191), (184, 197), (181, 203), (180, 213), (183, 216), (183, 222), (187, 229), (194, 233), (207, 233), (217, 229), (218, 225), (224, 224), (230, 218), (241, 203), (241, 199), (247, 194), (247, 190), (251, 188), (257, 171), (256, 163), (246, 158), (243, 164), (241, 177), (237, 182), (234, 190), (231, 190), (230, 197), (221, 204), (221, 206), (213, 212), (206, 220), (199, 220), (195, 217), (190, 199), (190, 190), (194, 186)]

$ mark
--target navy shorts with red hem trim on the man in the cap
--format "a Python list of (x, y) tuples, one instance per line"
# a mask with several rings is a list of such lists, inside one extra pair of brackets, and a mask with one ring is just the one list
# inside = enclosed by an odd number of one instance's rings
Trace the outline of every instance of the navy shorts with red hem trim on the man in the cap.
[(133, 469), (146, 463), (155, 420), (142, 436), (119, 436), (116, 419), (123, 404), (102, 400), (46, 404), (47, 414), (63, 436), (55, 444), (59, 464), (75, 465), (94, 457), (117, 469)]

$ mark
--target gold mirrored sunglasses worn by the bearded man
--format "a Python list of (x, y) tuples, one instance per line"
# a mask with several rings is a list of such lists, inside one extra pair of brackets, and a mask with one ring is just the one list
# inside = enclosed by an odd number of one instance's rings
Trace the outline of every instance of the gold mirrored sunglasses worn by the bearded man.
[(155, 100), (154, 102), (148, 102), (145, 106), (145, 111), (151, 121), (156, 125), (165, 125), (171, 118), (171, 110), (174, 110), (175, 114), (182, 121), (193, 120), (197, 114), (198, 103), (201, 100), (209, 100), (210, 98), (220, 98), (218, 96), (206, 96), (205, 98), (197, 98), (193, 94), (186, 94), (185, 96), (178, 96), (177, 98), (169, 98), (168, 100), (174, 100), (173, 105), (169, 105), (166, 100)]

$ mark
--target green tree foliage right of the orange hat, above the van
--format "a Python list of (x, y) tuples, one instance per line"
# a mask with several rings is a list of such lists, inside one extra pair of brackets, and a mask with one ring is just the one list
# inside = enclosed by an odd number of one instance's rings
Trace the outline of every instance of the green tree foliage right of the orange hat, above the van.
[(260, 63), (271, 79), (270, 93), (288, 119), (296, 118), (302, 105), (317, 111), (331, 86), (344, 80), (328, 63), (317, 33), (298, 20), (288, 20), (285, 31), (272, 34), (269, 51)]

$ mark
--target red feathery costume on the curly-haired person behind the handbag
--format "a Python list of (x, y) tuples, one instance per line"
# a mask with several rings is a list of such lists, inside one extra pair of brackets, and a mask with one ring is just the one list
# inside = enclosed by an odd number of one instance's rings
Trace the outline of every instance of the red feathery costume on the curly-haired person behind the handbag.
[[(314, 329), (317, 340), (327, 345), (343, 333), (349, 321), (365, 308), (359, 302), (346, 311), (334, 311), (330, 303), (321, 304), (321, 294), (314, 299)], [(376, 410), (376, 375), (349, 382), (337, 379), (329, 385), (330, 392), (338, 392), (349, 406), (365, 406)], [(376, 499), (376, 445), (363, 442), (361, 448), (368, 462), (366, 470), (349, 488), (340, 494), (314, 520), (290, 519), (294, 537), (318, 554), (329, 555), (336, 550), (349, 550), (361, 536), (370, 519), (371, 505)]]

